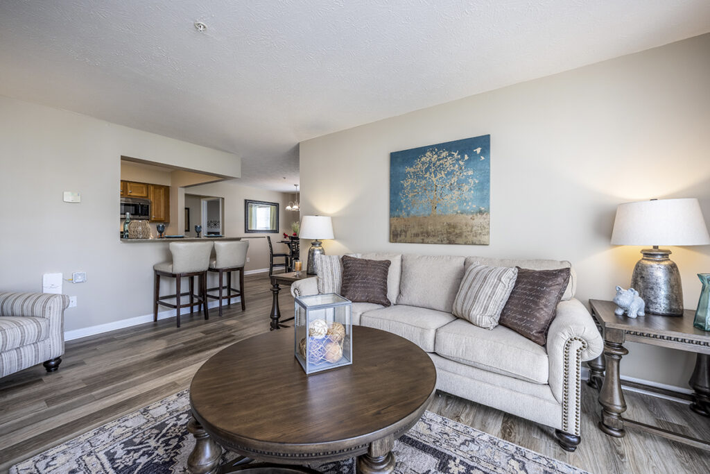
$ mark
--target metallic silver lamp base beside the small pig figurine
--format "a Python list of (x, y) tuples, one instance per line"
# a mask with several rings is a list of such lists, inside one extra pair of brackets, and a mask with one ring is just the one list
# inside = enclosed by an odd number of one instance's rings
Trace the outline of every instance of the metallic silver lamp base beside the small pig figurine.
[(646, 303), (646, 312), (661, 316), (683, 316), (683, 287), (678, 266), (670, 250), (643, 249), (643, 258), (633, 269), (631, 288)]

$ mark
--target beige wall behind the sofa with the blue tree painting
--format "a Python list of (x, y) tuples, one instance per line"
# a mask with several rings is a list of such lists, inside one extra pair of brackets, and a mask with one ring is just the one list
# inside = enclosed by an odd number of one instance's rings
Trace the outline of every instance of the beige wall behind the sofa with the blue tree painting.
[[(302, 142), (301, 213), (333, 216), (336, 239), (324, 243), (332, 254), (569, 259), (581, 301), (611, 299), (640, 258), (640, 247), (609, 244), (616, 205), (696, 197), (710, 222), (708, 58), (705, 35)], [(388, 242), (389, 153), (483, 134), (491, 244)], [(695, 308), (710, 247), (672, 251)], [(623, 374), (687, 384), (694, 355), (628, 348)]]

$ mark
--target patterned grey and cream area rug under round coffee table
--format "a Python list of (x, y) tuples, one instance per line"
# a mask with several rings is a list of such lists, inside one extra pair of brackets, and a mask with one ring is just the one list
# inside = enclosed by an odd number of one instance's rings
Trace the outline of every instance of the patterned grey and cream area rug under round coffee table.
[[(186, 473), (195, 446), (185, 429), (189, 420), (185, 390), (13, 465), (10, 473)], [(586, 472), (429, 411), (393, 451), (398, 473)], [(312, 467), (355, 473), (354, 459)]]

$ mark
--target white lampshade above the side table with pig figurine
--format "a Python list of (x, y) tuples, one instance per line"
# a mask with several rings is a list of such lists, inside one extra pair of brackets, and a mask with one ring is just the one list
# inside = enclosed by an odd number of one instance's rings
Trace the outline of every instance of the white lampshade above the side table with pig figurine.
[(708, 245), (710, 235), (697, 199), (661, 199), (620, 204), (611, 243)]

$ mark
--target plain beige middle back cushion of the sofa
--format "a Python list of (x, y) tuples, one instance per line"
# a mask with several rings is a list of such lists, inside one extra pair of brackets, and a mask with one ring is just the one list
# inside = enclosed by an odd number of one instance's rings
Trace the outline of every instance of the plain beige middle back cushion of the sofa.
[(403, 255), (397, 304), (451, 313), (464, 277), (465, 257)]

